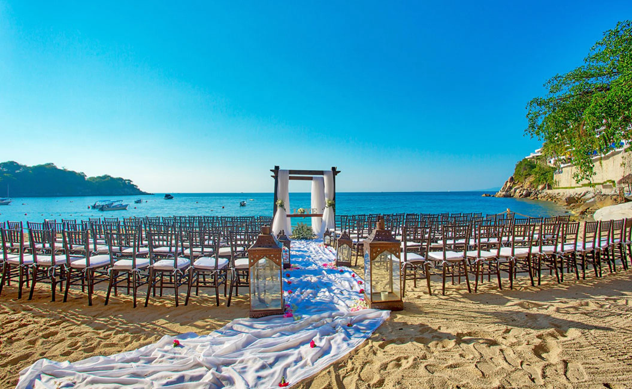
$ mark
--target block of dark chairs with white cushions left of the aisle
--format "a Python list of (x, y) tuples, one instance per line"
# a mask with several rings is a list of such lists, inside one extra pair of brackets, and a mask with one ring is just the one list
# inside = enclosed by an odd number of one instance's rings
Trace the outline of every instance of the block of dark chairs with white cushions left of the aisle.
[(178, 306), (179, 288), (187, 285), (185, 304), (191, 288), (198, 295), (200, 287), (212, 287), (219, 305), (219, 287), (224, 285), (226, 296), (230, 281), (230, 304), (233, 290), (238, 294), (240, 287), (248, 285), (246, 250), (256, 239), (259, 223), (269, 222), (261, 218), (233, 221), (246, 223), (100, 219), (62, 223), (61, 233), (56, 222), (29, 223), (28, 241), (21, 224), (9, 222), (0, 226), (0, 294), (4, 285), (16, 282), (18, 298), (27, 286), (32, 299), (35, 285), (44, 282), (51, 285), (52, 301), (58, 285), (66, 301), (70, 287), (80, 286), (82, 292), (87, 290), (88, 304), (92, 305), (95, 285), (109, 282), (106, 304), (111, 291), (116, 295), (123, 285), (136, 306), (137, 290), (147, 285), (145, 306), (150, 293), (155, 297), (159, 289), (162, 296), (165, 288), (173, 288)]

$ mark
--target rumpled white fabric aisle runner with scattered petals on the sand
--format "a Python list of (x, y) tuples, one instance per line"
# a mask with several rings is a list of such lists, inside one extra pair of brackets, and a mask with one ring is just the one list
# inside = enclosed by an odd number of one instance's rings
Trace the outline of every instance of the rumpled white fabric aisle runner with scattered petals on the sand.
[[(293, 317), (237, 319), (209, 335), (164, 336), (137, 350), (73, 363), (40, 359), (20, 372), (17, 388), (279, 388), (282, 376), (293, 386), (351, 352), (389, 318), (389, 311), (358, 310), (362, 280), (348, 268), (331, 268), (334, 255), (321, 242), (292, 241), (299, 268), (283, 275)], [(180, 347), (173, 347), (175, 339)]]

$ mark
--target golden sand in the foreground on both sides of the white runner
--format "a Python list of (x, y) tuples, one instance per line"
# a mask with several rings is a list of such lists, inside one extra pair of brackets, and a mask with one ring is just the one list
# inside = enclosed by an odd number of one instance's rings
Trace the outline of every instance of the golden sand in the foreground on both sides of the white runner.
[[(360, 268), (356, 268), (359, 273)], [(297, 385), (325, 388), (628, 388), (632, 385), (632, 273), (540, 287), (520, 278), (516, 290), (485, 283), (477, 294), (449, 285), (428, 296), (410, 285), (405, 309), (393, 313), (348, 357)], [(440, 284), (433, 282), (435, 290)], [(103, 306), (79, 292), (50, 302), (44, 285), (33, 301), (0, 299), (2, 388), (37, 359), (78, 361), (152, 344), (162, 335), (205, 334), (248, 314), (209, 297), (175, 308), (168, 298), (133, 309), (119, 294)]]

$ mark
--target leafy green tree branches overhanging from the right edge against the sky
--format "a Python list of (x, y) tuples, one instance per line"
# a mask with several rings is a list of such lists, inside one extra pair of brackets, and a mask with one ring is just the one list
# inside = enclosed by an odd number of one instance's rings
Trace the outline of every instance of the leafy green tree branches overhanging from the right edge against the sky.
[(549, 157), (566, 156), (590, 180), (593, 153), (632, 139), (632, 21), (620, 21), (590, 49), (584, 64), (544, 85), (527, 105), (525, 132), (544, 141)]

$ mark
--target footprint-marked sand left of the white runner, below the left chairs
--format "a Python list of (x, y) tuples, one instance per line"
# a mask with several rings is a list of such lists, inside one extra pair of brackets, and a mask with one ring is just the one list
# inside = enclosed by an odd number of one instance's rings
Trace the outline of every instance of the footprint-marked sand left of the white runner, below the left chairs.
[[(73, 362), (116, 354), (155, 343), (163, 335), (207, 334), (248, 316), (247, 295), (233, 296), (230, 308), (225, 300), (217, 307), (214, 297), (200, 291), (188, 306), (176, 308), (173, 298), (163, 297), (134, 309), (131, 296), (121, 293), (104, 306), (107, 284), (99, 286), (93, 306), (81, 292), (72, 292), (66, 303), (51, 302), (49, 285), (39, 285), (32, 301), (18, 300), (17, 288), (5, 287), (0, 296), (1, 388), (15, 387), (18, 372), (40, 358)], [(140, 295), (144, 299), (144, 290)]]

